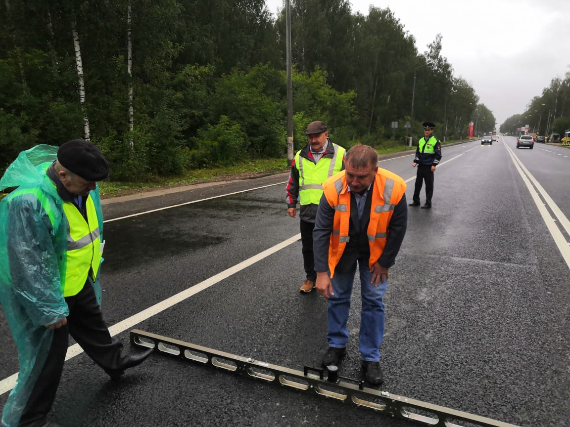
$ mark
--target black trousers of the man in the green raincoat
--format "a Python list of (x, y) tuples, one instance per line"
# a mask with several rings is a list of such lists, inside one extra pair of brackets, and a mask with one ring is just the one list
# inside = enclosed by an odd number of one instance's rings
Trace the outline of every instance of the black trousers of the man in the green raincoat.
[(67, 297), (66, 302), (70, 310), (67, 325), (54, 330), (46, 363), (20, 418), (21, 427), (45, 424), (62, 376), (68, 335), (76, 340), (93, 362), (108, 373), (120, 371), (128, 358), (121, 355), (123, 343), (109, 334), (91, 284), (87, 282), (77, 295)]

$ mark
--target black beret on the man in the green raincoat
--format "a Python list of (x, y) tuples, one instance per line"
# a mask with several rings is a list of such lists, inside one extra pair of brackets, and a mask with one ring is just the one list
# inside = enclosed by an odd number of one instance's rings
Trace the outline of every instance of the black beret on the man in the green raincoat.
[(109, 163), (101, 151), (83, 139), (63, 143), (58, 150), (58, 161), (64, 168), (87, 181), (96, 182), (109, 176)]

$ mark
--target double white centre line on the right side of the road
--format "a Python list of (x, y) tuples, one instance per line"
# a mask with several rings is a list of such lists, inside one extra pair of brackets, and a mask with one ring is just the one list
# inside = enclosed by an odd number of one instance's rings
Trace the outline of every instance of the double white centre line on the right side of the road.
[[(511, 156), (512, 162), (515, 164), (516, 170), (519, 171), (520, 176), (523, 178), (524, 184), (526, 184), (528, 188), (528, 192), (530, 192), (532, 196), (532, 200), (534, 200), (536, 207), (538, 208), (544, 223), (546, 224), (548, 231), (550, 232), (552, 239), (556, 243), (564, 261), (566, 261), (566, 265), (570, 268), (570, 248), (568, 247), (568, 242), (566, 241), (564, 235), (560, 231), (560, 229), (556, 225), (556, 220), (551, 216), (548, 210), (544, 207), (544, 203), (540, 200), (538, 192), (543, 197), (544, 201), (548, 204), (556, 218), (558, 219), (560, 225), (565, 229), (565, 231), (570, 235), (570, 221), (568, 218), (562, 213), (560, 208), (554, 203), (554, 200), (548, 195), (548, 193), (544, 190), (544, 188), (539, 184), (534, 176), (528, 171), (526, 167), (524, 167), (523, 163), (516, 157), (515, 153), (507, 146), (508, 154)], [(534, 187), (532, 184), (534, 184)], [(536, 188), (536, 190), (535, 190)], [(538, 192), (537, 192), (538, 190)]]

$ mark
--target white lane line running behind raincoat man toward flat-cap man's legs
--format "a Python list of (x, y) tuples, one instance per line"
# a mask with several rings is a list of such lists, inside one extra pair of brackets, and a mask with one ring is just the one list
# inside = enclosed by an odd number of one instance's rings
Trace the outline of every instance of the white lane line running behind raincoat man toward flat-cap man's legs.
[[(215, 274), (215, 276), (207, 278), (206, 280), (194, 286), (190, 286), (190, 288), (185, 289), (180, 293), (177, 293), (176, 295), (172, 295), (172, 297), (170, 298), (166, 298), (164, 301), (161, 301), (151, 307), (148, 307), (148, 309), (143, 310), (140, 313), (132, 315), (131, 317), (128, 317), (127, 319), (124, 319), (119, 323), (115, 323), (115, 325), (109, 327), (109, 332), (111, 333), (111, 336), (115, 336), (117, 334), (120, 334), (121, 332), (131, 329), (133, 326), (138, 325), (140, 322), (143, 322), (146, 319), (153, 317), (155, 314), (158, 314), (161, 311), (169, 309), (170, 307), (176, 305), (177, 303), (192, 297), (192, 295), (195, 295), (204, 289), (210, 288), (210, 286), (217, 284), (218, 282), (232, 276), (235, 273), (240, 272), (243, 269), (246, 269), (247, 267), (255, 264), (256, 262), (263, 260), (264, 258), (267, 258), (271, 254), (274, 254), (275, 252), (278, 252), (281, 249), (288, 247), (288, 245), (295, 243), (300, 238), (301, 234), (299, 233), (293, 237), (290, 237), (287, 240), (282, 241), (281, 243), (276, 244), (274, 247), (266, 249), (263, 252), (259, 252), (257, 255), (254, 255), (253, 257), (247, 258), (247, 260), (242, 261), (239, 264), (231, 266), (229, 269), (223, 270), (223, 272), (221, 273)], [(74, 344), (73, 346), (67, 348), (66, 360), (74, 358), (75, 356), (82, 353), (83, 349), (79, 346), (79, 344)], [(18, 373), (14, 373), (14, 375), (10, 375), (9, 377), (0, 381), (0, 395), (3, 395), (4, 393), (13, 389), (16, 385), (17, 379), (18, 379)]]

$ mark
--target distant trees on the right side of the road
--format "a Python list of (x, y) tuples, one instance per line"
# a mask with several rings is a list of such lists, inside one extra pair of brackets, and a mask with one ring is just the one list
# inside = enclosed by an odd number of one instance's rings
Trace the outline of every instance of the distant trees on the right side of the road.
[[(570, 129), (570, 72), (564, 79), (556, 77), (544, 88), (542, 95), (528, 103), (524, 113), (514, 114), (500, 125), (500, 132), (517, 134), (528, 125), (530, 133), (549, 136), (560, 135)], [(523, 131), (524, 133), (524, 131)]]

